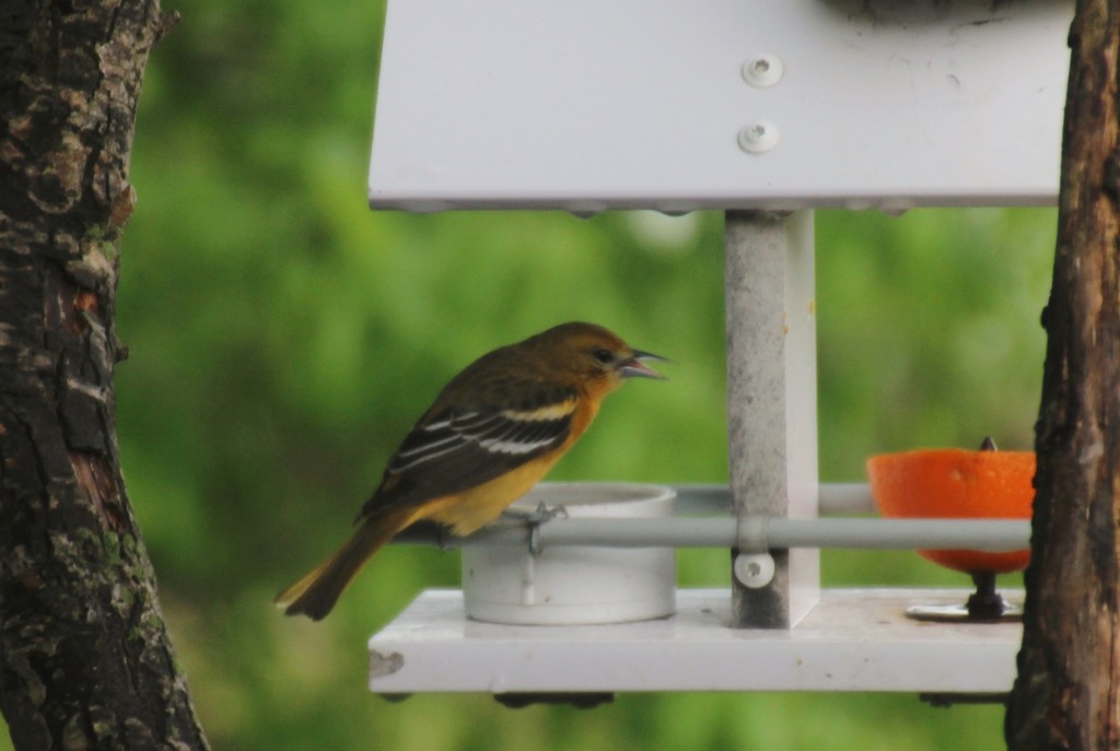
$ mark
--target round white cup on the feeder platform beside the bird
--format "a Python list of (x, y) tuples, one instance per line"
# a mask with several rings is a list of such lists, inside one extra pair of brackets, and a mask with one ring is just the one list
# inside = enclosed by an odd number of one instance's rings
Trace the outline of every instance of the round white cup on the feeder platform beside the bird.
[[(545, 482), (513, 504), (542, 503), (571, 517), (672, 516), (676, 492), (657, 485)], [(545, 522), (545, 524), (549, 524)], [(676, 607), (676, 551), (671, 547), (522, 545), (463, 548), (468, 618), (519, 626), (624, 623), (671, 616)]]

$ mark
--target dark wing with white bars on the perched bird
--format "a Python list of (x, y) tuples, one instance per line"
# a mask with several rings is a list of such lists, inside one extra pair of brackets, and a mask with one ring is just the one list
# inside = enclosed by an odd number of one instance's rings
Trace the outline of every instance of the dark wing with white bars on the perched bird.
[(448, 407), (426, 415), (389, 461), (360, 517), (468, 490), (558, 449), (576, 405), (572, 394), (535, 407)]

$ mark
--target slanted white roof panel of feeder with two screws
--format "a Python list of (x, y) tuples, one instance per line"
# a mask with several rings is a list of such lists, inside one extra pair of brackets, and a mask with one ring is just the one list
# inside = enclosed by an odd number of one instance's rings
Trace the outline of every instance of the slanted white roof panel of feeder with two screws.
[[(1053, 204), (1072, 7), (391, 0), (370, 200), (580, 213)], [(744, 76), (762, 55), (781, 66), (776, 83)], [(740, 133), (760, 122), (764, 145), (744, 150)]]

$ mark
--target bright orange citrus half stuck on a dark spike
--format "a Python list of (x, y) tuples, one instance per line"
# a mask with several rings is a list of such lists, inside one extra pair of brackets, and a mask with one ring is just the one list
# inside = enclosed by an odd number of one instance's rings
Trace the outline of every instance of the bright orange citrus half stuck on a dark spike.
[[(867, 461), (879, 513), (893, 518), (1029, 519), (1034, 506), (1035, 454), (1030, 451), (920, 449)], [(965, 573), (1007, 573), (1027, 566), (1030, 551), (918, 551), (918, 555)]]

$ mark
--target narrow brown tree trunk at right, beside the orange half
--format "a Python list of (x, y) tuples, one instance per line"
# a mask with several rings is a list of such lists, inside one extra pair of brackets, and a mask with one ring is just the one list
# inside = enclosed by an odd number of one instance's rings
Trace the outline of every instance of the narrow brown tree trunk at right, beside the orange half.
[(1120, 0), (1079, 0), (1070, 45), (1017, 751), (1120, 748)]

